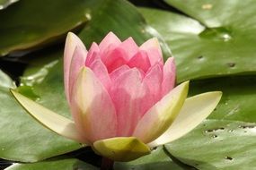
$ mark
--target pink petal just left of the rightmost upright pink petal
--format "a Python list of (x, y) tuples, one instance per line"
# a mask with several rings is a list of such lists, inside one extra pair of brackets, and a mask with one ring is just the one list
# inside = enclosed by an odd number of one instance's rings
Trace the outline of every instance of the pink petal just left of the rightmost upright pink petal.
[(148, 98), (148, 103), (151, 106), (154, 105), (157, 101), (161, 99), (161, 92), (162, 92), (162, 81), (163, 81), (163, 71), (159, 64), (155, 64), (153, 67), (151, 67), (148, 72), (146, 73), (146, 76), (143, 80), (143, 83), (146, 84), (146, 86), (149, 89), (150, 98)]

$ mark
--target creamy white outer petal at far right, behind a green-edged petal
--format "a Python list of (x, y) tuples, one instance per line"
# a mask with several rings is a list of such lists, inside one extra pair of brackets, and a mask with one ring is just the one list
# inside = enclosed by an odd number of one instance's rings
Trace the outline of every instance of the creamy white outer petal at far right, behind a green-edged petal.
[(170, 128), (159, 138), (148, 143), (148, 146), (156, 147), (169, 143), (192, 131), (211, 114), (221, 96), (221, 91), (214, 91), (187, 98), (180, 114), (176, 117)]

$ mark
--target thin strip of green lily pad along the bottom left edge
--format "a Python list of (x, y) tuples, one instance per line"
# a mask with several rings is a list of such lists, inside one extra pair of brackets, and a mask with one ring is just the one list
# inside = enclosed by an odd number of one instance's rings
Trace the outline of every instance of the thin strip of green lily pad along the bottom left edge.
[(74, 169), (86, 169), (96, 170), (99, 169), (95, 166), (86, 164), (78, 159), (63, 159), (63, 160), (49, 160), (32, 164), (13, 164), (5, 170), (44, 170), (44, 169), (55, 169), (55, 170), (74, 170)]

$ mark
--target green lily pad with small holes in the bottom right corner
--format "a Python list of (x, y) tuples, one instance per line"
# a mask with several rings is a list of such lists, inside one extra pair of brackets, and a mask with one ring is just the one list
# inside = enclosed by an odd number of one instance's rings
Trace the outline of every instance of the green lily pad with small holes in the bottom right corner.
[(256, 123), (210, 119), (166, 148), (198, 169), (253, 169)]

